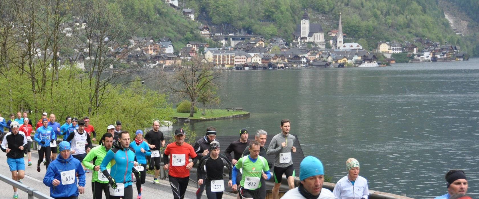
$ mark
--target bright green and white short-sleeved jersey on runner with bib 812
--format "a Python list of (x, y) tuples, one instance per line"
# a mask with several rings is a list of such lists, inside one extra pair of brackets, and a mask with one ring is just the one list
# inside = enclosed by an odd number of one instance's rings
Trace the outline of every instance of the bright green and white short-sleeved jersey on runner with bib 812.
[(268, 162), (266, 158), (258, 156), (256, 161), (251, 161), (250, 156), (241, 157), (236, 163), (237, 169), (242, 168), (243, 175), (239, 185), (245, 189), (255, 190), (261, 187), (260, 179), (263, 171), (269, 171)]

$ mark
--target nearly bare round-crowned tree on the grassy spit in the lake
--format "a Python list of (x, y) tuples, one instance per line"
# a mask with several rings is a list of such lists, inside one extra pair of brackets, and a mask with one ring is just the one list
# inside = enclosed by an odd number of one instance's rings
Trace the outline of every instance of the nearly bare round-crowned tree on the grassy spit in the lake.
[(190, 117), (194, 116), (194, 106), (197, 102), (203, 105), (218, 103), (216, 96), (218, 79), (222, 70), (215, 69), (213, 63), (206, 62), (203, 57), (191, 57), (183, 60), (182, 67), (175, 71), (166, 82), (170, 90), (191, 102)]

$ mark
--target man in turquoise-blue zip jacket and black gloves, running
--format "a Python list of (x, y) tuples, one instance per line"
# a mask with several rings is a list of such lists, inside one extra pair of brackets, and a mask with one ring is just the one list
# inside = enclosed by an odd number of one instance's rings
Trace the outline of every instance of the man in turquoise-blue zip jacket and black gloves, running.
[[(130, 148), (130, 135), (128, 131), (118, 134), (118, 142), (106, 153), (106, 156), (100, 164), (100, 170), (108, 178), (110, 184), (110, 199), (132, 199), (133, 186), (131, 185), (131, 172), (139, 174), (135, 169), (135, 150)], [(111, 175), (107, 170), (107, 165), (112, 164)]]

